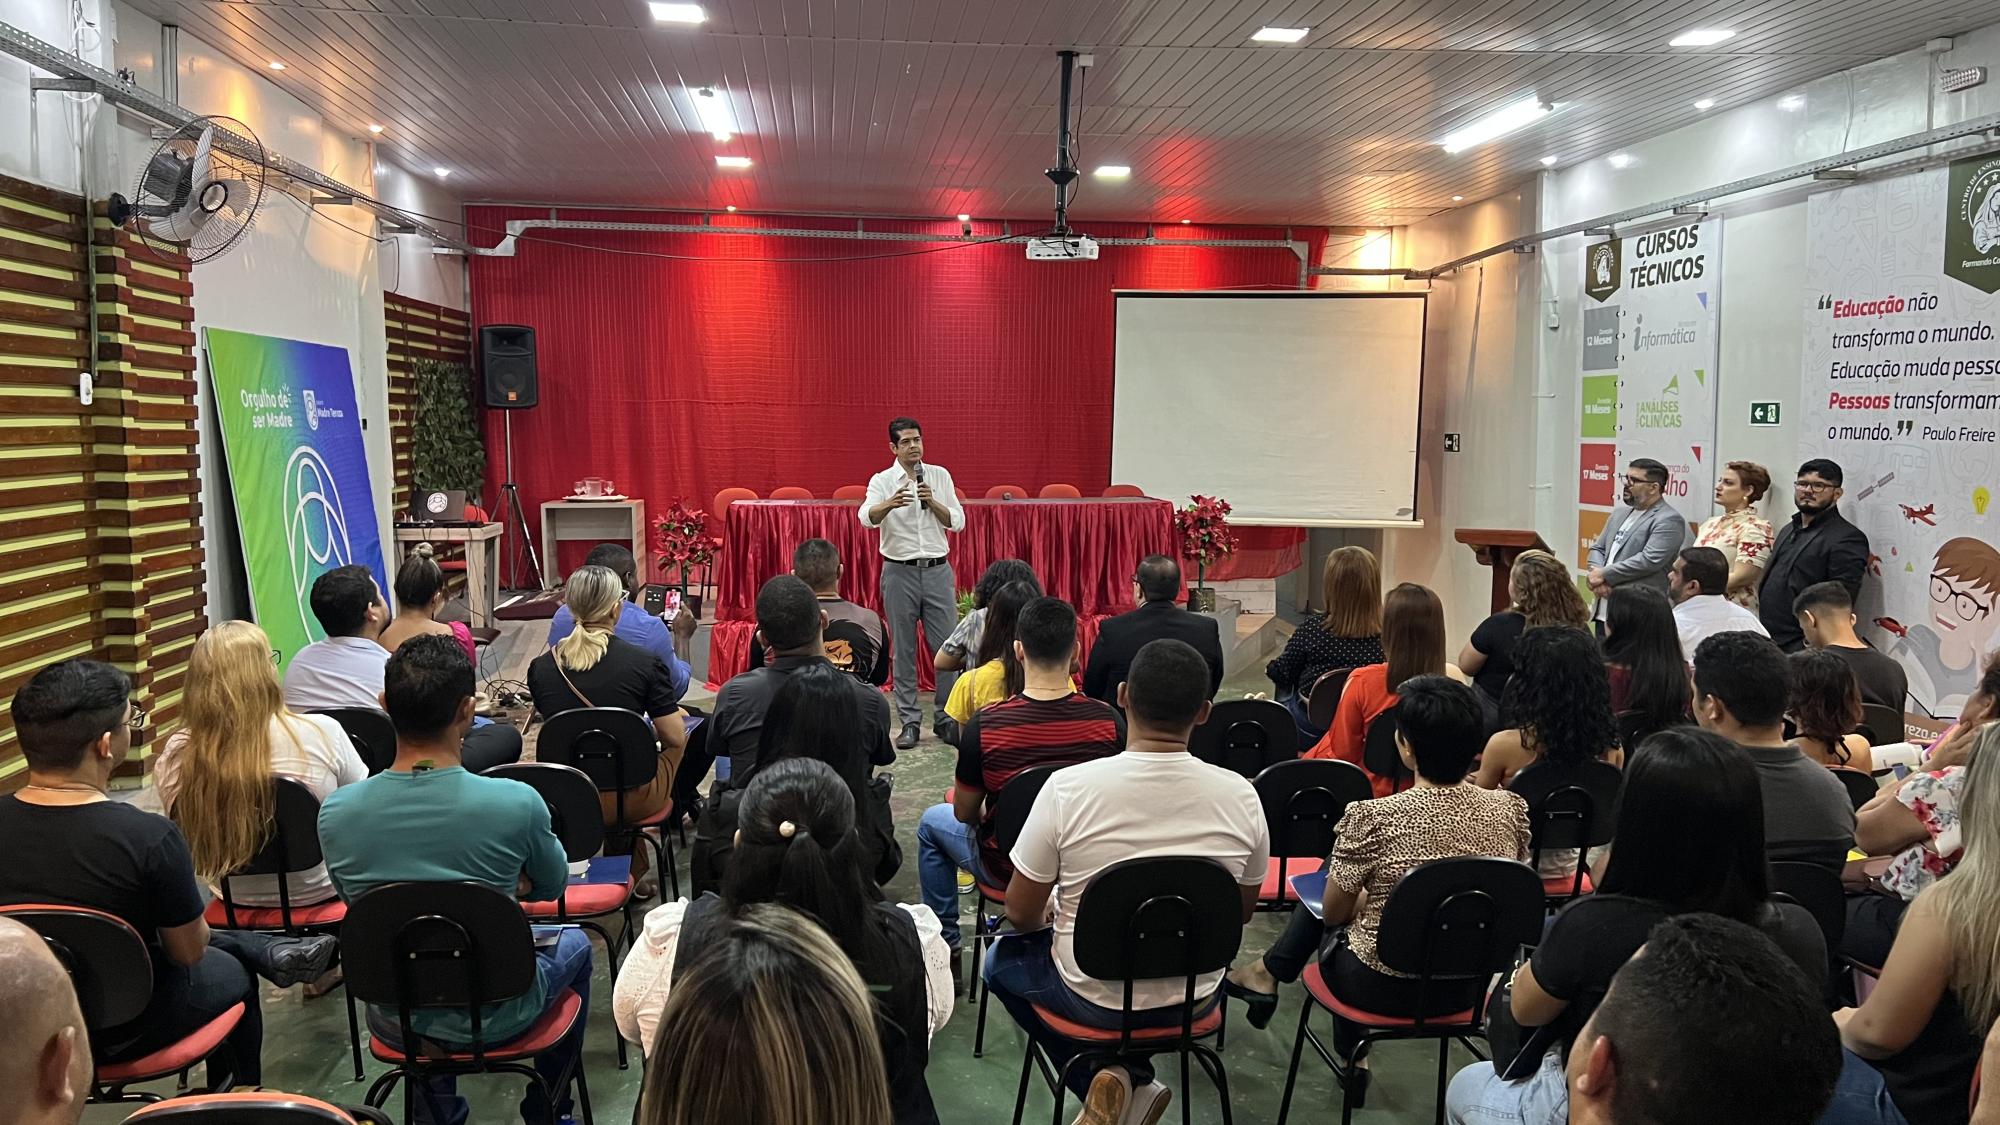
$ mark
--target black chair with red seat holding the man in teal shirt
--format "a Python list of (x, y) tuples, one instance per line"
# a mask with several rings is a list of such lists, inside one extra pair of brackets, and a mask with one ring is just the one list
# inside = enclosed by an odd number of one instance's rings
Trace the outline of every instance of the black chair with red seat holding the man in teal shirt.
[[(582, 999), (568, 989), (550, 997), (542, 1017), (506, 1043), (488, 1043), (480, 1031), (482, 1005), (518, 997), (536, 981), (528, 915), (510, 895), (480, 883), (388, 883), (348, 907), (340, 949), (348, 991), (396, 1011), (396, 1043), (368, 1037), (368, 1053), (390, 1065), (368, 1087), (370, 1107), (380, 1107), (400, 1081), (402, 1119), (410, 1121), (418, 1087), (428, 1075), (512, 1073), (528, 1079), (548, 1115), (556, 1115), (556, 1091), (534, 1069), (534, 1057), (584, 1019)], [(472, 1043), (432, 1049), (410, 1027), (410, 1013), (420, 1009), (464, 1011)], [(562, 1075), (560, 1085), (570, 1083), (576, 1085), (584, 1123), (592, 1125), (590, 1085), (580, 1059)], [(428, 1087), (422, 1097), (430, 1097)], [(432, 1119), (444, 1117), (436, 1105), (430, 1111)]]

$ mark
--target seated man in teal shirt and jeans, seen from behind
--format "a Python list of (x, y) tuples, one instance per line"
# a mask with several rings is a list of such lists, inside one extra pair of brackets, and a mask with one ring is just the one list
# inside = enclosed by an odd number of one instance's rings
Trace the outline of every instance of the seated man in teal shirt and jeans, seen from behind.
[[(388, 883), (458, 881), (538, 903), (560, 897), (570, 865), (550, 831), (548, 805), (518, 781), (480, 777), (460, 763), (458, 747), (472, 725), (472, 665), (458, 645), (448, 637), (408, 639), (384, 669), (382, 705), (396, 725), (394, 765), (336, 789), (320, 805), (320, 847), (340, 897), (354, 903)], [(536, 949), (536, 979), (526, 993), (480, 1007), (480, 1039), (498, 1045), (526, 1031), (564, 989), (582, 997), (582, 1015), (534, 1061), (558, 1091), (558, 1121), (570, 1111), (560, 1077), (578, 1059), (590, 1013), (590, 937), (564, 929), (552, 949)], [(394, 1009), (370, 1005), (368, 1027), (400, 1047)], [(412, 1011), (410, 1027), (426, 1045), (472, 1045), (462, 1009)], [(416, 1121), (432, 1121), (432, 1101), (448, 1121), (464, 1121), (458, 1079), (438, 1075), (428, 1083), (432, 1097), (416, 1099)], [(530, 1125), (552, 1125), (538, 1095), (524, 1097), (520, 1113)]]

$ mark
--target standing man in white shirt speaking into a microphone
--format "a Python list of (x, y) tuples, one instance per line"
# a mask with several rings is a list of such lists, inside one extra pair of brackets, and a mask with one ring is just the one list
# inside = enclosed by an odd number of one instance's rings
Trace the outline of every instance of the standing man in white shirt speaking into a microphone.
[[(896, 464), (868, 480), (860, 516), (864, 526), (882, 528), (882, 613), (896, 651), (896, 715), (902, 719), (896, 749), (908, 751), (924, 733), (924, 713), (916, 705), (916, 623), (924, 623), (932, 649), (958, 625), (958, 589), (944, 532), (962, 530), (966, 512), (958, 506), (952, 474), (924, 464), (924, 428), (916, 418), (890, 422), (888, 444)], [(938, 711), (944, 711), (946, 689), (940, 681)]]

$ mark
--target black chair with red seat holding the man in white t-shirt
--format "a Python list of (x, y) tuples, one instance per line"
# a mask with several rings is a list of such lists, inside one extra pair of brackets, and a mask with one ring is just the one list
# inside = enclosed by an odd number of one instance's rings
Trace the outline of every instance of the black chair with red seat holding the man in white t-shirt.
[[(1106, 1057), (1180, 1055), (1180, 1105), (1188, 1113), (1188, 1057), (1192, 1055), (1216, 1083), (1222, 1099), (1222, 1125), (1230, 1125), (1230, 1083), (1222, 1055), (1208, 1039), (1222, 1027), (1220, 989), (1202, 1001), (1194, 999), (1194, 979), (1202, 973), (1228, 969), (1242, 945), (1242, 891), (1236, 879), (1212, 859), (1148, 857), (1126, 859), (1098, 873), (1076, 909), (1072, 951), (1076, 967), (1088, 977), (1124, 985), (1120, 1025), (1116, 1029), (1072, 1023), (1036, 1005), (1036, 1015), (1078, 1051), (1060, 1071), (1042, 1049), (1028, 1039), (1020, 1061), (1020, 1093), (1014, 1097), (1014, 1125), (1028, 1107), (1030, 1067), (1042, 1071), (1042, 1081), (1056, 1095), (1054, 1119), (1062, 1121), (1064, 1079), (1072, 1067), (1090, 1067)], [(1132, 1027), (1132, 983), (1180, 979), (1186, 1003), (1178, 1005), (1180, 1025)]]

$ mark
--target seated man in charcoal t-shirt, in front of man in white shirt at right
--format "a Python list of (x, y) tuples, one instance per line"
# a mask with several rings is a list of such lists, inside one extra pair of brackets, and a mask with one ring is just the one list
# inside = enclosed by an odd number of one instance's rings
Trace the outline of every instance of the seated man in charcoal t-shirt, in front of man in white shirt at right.
[(1840, 871), (1854, 843), (1854, 803), (1840, 779), (1784, 741), (1792, 695), (1784, 661), (1778, 645), (1756, 633), (1702, 641), (1694, 651), (1694, 717), (1750, 755), (1764, 795), (1766, 855)]

